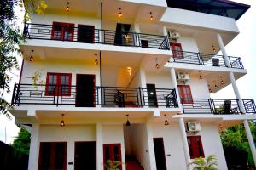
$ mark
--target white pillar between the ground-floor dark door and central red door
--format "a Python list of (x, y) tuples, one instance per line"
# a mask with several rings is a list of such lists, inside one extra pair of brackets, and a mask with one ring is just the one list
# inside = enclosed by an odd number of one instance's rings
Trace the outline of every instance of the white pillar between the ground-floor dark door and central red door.
[(96, 169), (104, 169), (103, 161), (103, 126), (101, 122), (96, 124)]

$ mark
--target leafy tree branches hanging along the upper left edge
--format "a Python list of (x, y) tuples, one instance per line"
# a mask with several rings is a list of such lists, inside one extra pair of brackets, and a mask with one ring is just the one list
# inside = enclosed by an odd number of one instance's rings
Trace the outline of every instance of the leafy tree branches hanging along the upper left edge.
[[(35, 5), (36, 4), (36, 5)], [(1, 0), (0, 1), (0, 113), (9, 116), (9, 103), (3, 99), (3, 93), (10, 92), (11, 77), (6, 71), (19, 69), (16, 57), (20, 55), (20, 42), (25, 42), (20, 28), (17, 26), (15, 7), (25, 8), (24, 21), (30, 19), (36, 12), (43, 14), (47, 8), (44, 0)]]

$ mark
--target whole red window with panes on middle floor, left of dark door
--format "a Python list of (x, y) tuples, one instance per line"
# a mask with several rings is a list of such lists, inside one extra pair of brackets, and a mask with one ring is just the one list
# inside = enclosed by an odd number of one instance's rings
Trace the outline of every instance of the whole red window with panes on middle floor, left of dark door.
[(45, 95), (69, 96), (71, 94), (71, 74), (47, 73)]

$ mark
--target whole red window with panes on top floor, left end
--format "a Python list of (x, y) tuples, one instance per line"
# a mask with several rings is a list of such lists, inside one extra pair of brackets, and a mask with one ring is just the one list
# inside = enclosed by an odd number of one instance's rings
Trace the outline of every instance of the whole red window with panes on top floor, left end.
[(73, 41), (74, 24), (53, 22), (51, 39)]

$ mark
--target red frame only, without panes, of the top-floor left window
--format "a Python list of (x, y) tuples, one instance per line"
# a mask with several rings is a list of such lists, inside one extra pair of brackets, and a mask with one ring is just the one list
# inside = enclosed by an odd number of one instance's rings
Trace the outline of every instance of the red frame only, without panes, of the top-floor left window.
[[(55, 26), (61, 26), (61, 39), (55, 39), (55, 37), (54, 37)], [(71, 31), (72, 31), (71, 40), (64, 39), (64, 32), (66, 30), (65, 26), (71, 26)], [(53, 23), (52, 23), (52, 31), (51, 31), (51, 39), (53, 39), (53, 40), (61, 40), (61, 41), (73, 41), (74, 26), (75, 25), (73, 23), (55, 22), (55, 21), (53, 21)]]

